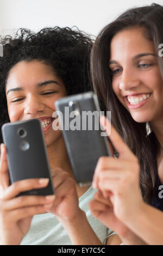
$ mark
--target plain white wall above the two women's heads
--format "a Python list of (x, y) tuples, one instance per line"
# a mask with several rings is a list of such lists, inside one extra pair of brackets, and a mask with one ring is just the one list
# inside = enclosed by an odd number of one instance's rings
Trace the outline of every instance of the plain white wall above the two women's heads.
[(124, 10), (163, 0), (0, 0), (0, 34), (20, 27), (72, 27), (93, 35)]

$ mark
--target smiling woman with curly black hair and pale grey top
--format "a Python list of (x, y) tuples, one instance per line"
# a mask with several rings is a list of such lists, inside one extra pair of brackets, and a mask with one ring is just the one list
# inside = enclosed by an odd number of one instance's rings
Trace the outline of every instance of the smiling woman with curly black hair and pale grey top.
[[(80, 188), (74, 181), (62, 133), (52, 127), (57, 99), (90, 90), (92, 41), (77, 29), (54, 27), (38, 33), (20, 29), (14, 38), (6, 36), (1, 43), (1, 125), (7, 121), (41, 119), (55, 189), (55, 198), (15, 197), (21, 191), (46, 186), (47, 180), (22, 180), (9, 185), (6, 149), (2, 144), (1, 243), (100, 245), (108, 229), (90, 214), (88, 202), (94, 191), (92, 187)], [(108, 243), (120, 241), (116, 235), (112, 237)]]

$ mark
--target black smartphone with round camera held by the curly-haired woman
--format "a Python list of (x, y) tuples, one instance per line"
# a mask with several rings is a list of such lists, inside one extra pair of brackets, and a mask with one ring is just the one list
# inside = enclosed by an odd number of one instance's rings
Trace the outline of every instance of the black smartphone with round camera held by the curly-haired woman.
[(47, 187), (22, 192), (21, 195), (54, 194), (41, 121), (30, 119), (4, 124), (2, 136), (7, 147), (11, 184), (24, 179), (48, 178)]

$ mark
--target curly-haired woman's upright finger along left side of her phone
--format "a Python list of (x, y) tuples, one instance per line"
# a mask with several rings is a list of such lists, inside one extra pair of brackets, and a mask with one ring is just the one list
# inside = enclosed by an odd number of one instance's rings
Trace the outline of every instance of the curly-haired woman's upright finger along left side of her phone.
[(0, 185), (3, 188), (9, 187), (7, 150), (3, 143), (1, 144), (1, 155), (0, 155)]

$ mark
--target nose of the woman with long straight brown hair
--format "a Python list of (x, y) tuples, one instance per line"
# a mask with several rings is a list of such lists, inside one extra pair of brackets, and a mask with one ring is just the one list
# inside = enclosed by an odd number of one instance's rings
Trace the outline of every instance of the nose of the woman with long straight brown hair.
[(123, 69), (119, 88), (121, 90), (134, 90), (139, 86), (140, 80), (134, 71), (129, 69)]

